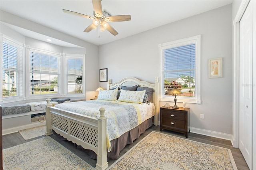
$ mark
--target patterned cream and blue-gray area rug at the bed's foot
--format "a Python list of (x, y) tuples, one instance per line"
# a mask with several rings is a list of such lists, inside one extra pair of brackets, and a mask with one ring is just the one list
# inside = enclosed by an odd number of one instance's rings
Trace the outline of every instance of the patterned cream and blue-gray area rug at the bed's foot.
[(6, 170), (94, 170), (50, 136), (3, 150)]

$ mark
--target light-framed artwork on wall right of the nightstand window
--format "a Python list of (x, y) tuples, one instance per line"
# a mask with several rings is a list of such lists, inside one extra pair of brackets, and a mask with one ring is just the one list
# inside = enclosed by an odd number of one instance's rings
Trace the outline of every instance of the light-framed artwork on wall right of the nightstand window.
[(208, 77), (209, 78), (222, 77), (222, 57), (208, 59)]

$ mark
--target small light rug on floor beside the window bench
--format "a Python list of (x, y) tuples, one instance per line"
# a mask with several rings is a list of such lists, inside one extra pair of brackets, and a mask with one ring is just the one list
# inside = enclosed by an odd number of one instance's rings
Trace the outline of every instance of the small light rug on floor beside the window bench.
[(33, 128), (24, 129), (24, 130), (19, 130), (19, 132), (25, 140), (36, 138), (38, 136), (44, 135), (45, 125), (40, 127), (33, 127)]

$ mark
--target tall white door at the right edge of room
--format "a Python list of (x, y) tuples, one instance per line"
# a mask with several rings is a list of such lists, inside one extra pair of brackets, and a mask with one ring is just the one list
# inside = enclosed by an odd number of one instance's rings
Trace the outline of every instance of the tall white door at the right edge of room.
[(239, 23), (239, 148), (252, 169), (252, 3)]

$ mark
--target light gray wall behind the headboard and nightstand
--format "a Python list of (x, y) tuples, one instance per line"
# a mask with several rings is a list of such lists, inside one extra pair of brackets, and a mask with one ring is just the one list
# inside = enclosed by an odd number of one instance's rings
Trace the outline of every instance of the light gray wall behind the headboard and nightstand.
[[(232, 134), (232, 4), (99, 46), (99, 68), (112, 82), (159, 76), (158, 44), (201, 35), (201, 104), (190, 107), (190, 126)], [(223, 57), (223, 78), (208, 78), (208, 59)], [(106, 88), (106, 83), (100, 84)], [(166, 101), (160, 101), (160, 106)], [(171, 105), (174, 103), (169, 102)], [(177, 105), (182, 105), (178, 103)], [(200, 119), (204, 114), (204, 119)]]

